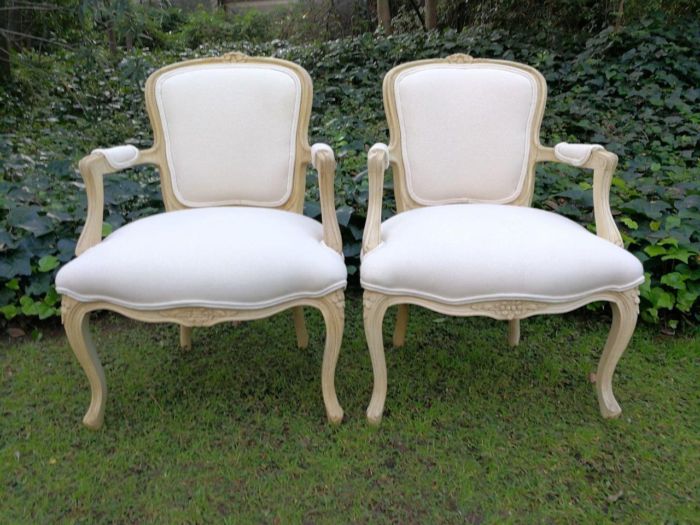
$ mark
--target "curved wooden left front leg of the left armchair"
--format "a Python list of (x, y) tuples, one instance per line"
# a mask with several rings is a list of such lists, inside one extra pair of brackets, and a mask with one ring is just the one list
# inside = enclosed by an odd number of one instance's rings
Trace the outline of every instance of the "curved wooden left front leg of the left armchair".
[(104, 422), (107, 383), (90, 335), (89, 312), (70, 297), (63, 297), (61, 309), (68, 342), (90, 382), (90, 407), (83, 417), (83, 424), (97, 430)]

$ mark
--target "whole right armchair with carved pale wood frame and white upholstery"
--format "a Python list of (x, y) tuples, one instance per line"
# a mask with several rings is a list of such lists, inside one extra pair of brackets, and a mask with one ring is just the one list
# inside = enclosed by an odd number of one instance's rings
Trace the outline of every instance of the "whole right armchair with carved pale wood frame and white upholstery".
[[(603, 417), (621, 413), (612, 376), (634, 332), (644, 275), (610, 210), (617, 156), (599, 145), (542, 146), (546, 90), (531, 67), (461, 54), (403, 64), (384, 78), (391, 140), (368, 154), (361, 266), (371, 423), (381, 421), (387, 392), (382, 321), (398, 305), (393, 342), (403, 345), (409, 304), (507, 320), (517, 345), (521, 319), (611, 303), (596, 392)], [(593, 170), (597, 236), (530, 208), (535, 165), (544, 161)], [(382, 223), (390, 165), (398, 213)]]

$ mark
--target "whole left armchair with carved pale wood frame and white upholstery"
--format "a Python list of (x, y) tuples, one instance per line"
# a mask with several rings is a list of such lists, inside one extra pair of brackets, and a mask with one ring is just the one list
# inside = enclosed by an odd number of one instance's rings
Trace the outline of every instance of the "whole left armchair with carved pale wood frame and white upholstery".
[[(153, 146), (94, 150), (80, 161), (88, 212), (77, 258), (56, 276), (70, 345), (90, 382), (83, 422), (99, 428), (107, 386), (89, 314), (112, 310), (192, 328), (292, 309), (308, 344), (303, 307), (326, 323), (321, 386), (328, 419), (343, 411), (334, 373), (344, 322), (346, 270), (333, 202), (335, 159), (309, 146), (312, 85), (300, 66), (229, 53), (162, 68), (146, 83)], [(322, 224), (302, 215), (306, 168), (318, 171)], [(102, 241), (102, 178), (139, 164), (160, 171), (165, 213)]]

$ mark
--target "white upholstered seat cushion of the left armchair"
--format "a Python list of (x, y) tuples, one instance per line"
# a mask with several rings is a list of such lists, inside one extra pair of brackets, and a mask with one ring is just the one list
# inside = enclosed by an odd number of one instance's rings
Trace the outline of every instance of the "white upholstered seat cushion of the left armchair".
[(64, 266), (56, 289), (79, 301), (150, 310), (255, 309), (344, 288), (322, 226), (264, 208), (200, 208), (135, 221)]

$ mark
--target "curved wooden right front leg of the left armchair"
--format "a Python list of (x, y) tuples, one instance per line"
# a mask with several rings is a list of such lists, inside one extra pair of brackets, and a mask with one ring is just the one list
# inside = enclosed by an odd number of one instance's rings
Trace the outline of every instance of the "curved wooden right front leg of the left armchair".
[[(340, 355), (340, 345), (343, 341), (343, 326), (345, 324), (345, 296), (343, 291), (338, 290), (327, 295), (323, 298), (322, 304), (321, 312), (326, 322), (326, 347), (323, 351), (323, 365), (321, 368), (321, 390), (323, 392), (323, 402), (326, 405), (328, 421), (333, 424), (339, 424), (343, 420), (343, 408), (338, 403), (338, 396), (335, 392), (335, 366)], [(301, 308), (299, 308), (299, 312), (302, 312)], [(296, 320), (296, 309), (294, 315)], [(301, 319), (303, 322), (303, 317)], [(304, 333), (306, 333), (306, 328), (304, 328)]]

